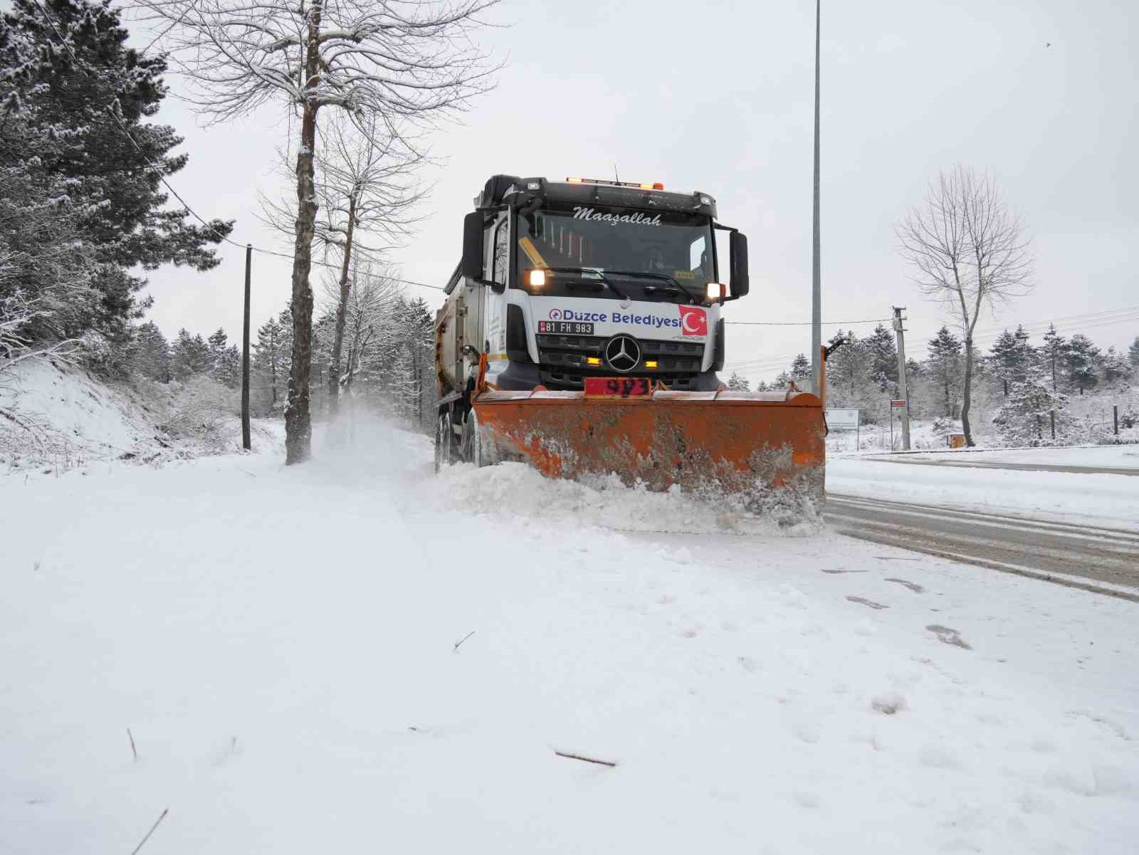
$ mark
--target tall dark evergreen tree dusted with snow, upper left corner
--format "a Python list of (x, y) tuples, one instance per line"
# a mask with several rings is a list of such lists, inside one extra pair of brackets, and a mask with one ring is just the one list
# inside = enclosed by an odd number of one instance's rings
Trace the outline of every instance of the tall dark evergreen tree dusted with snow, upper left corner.
[(0, 130), (0, 163), (66, 186), (64, 198), (98, 263), (99, 299), (89, 315), (68, 319), (64, 331), (72, 336), (93, 327), (125, 337), (128, 322), (150, 304), (137, 299), (146, 281), (128, 270), (164, 263), (208, 270), (219, 260), (205, 246), (232, 230), (222, 221), (190, 225), (188, 211), (165, 207), (162, 178), (187, 156), (171, 154), (182, 142), (173, 129), (144, 120), (166, 96), (166, 61), (128, 48), (126, 38), (109, 0), (13, 0), (0, 16), (0, 68), (10, 88), (3, 106), (19, 108), (10, 131), (8, 123)]

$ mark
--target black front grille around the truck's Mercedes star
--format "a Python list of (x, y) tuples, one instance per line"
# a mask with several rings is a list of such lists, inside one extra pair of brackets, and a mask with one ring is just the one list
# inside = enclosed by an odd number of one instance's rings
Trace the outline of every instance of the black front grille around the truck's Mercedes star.
[[(587, 377), (622, 375), (605, 363), (605, 343), (601, 336), (538, 336), (538, 354), (542, 384), (555, 389), (580, 389)], [(673, 389), (689, 389), (695, 385), (704, 359), (704, 345), (689, 342), (659, 342), (637, 339), (641, 360), (656, 360), (655, 370), (638, 367), (624, 377), (652, 377)], [(600, 365), (585, 362), (589, 356), (601, 360)]]

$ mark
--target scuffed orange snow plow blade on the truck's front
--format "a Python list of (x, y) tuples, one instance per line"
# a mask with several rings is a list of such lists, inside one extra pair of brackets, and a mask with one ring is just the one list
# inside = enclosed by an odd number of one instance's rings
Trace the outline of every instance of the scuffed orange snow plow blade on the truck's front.
[(808, 393), (487, 389), (474, 409), (487, 461), (521, 460), (551, 478), (613, 472), (656, 491), (679, 484), (760, 512), (822, 509), (826, 428)]

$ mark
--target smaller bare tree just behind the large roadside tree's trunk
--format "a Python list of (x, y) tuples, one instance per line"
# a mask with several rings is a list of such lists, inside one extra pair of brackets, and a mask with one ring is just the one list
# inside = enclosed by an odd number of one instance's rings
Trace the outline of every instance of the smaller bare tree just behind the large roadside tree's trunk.
[[(319, 207), (313, 239), (323, 260), (335, 258), (341, 266), (328, 371), (328, 406), (335, 413), (344, 381), (341, 356), (350, 273), (358, 256), (376, 261), (409, 237), (416, 222), (412, 208), (425, 195), (413, 172), (426, 157), (404, 129), (388, 128), (377, 114), (333, 114), (327, 126), (318, 128), (318, 138), (322, 145), (316, 158)], [(262, 211), (264, 222), (293, 231), (294, 214), (285, 204), (263, 198)]]

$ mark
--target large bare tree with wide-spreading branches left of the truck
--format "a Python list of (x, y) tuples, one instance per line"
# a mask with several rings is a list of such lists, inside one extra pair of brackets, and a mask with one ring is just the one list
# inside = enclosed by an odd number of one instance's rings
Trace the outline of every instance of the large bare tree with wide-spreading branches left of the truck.
[(137, 0), (166, 27), (163, 46), (213, 121), (284, 99), (300, 118), (293, 249), (293, 365), (285, 408), (286, 463), (312, 447), (312, 241), (317, 116), (428, 123), (464, 109), (491, 87), (486, 56), (470, 42), (497, 0)]

